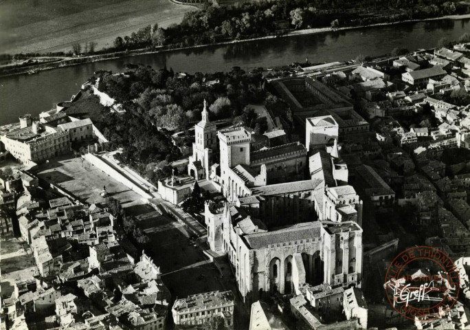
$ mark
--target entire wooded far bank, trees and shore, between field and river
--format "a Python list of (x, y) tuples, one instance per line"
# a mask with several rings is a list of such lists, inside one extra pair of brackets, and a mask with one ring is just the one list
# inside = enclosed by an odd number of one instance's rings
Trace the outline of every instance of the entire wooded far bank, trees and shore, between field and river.
[(0, 67), (0, 74), (19, 74), (36, 67), (49, 69), (142, 52), (285, 36), (298, 30), (326, 32), (469, 13), (469, 3), (443, 0), (263, 0), (231, 5), (219, 5), (216, 0), (202, 1), (179, 24), (167, 28), (157, 23), (147, 25), (130, 35), (117, 36), (113, 45), (101, 50), (96, 49), (95, 42), (87, 41), (74, 43), (67, 54), (3, 54), (0, 60), (6, 65)]

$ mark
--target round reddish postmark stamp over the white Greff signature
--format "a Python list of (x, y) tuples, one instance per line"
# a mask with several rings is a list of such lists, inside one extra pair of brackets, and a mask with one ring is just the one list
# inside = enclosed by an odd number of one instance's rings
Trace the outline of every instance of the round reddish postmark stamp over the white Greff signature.
[(443, 318), (454, 307), (460, 277), (447, 254), (429, 246), (416, 246), (393, 259), (384, 288), (388, 301), (399, 314), (427, 322)]

